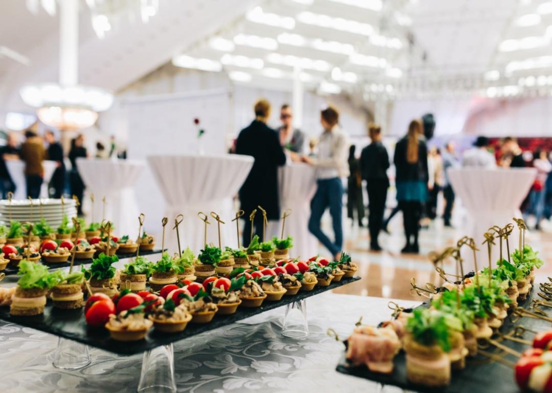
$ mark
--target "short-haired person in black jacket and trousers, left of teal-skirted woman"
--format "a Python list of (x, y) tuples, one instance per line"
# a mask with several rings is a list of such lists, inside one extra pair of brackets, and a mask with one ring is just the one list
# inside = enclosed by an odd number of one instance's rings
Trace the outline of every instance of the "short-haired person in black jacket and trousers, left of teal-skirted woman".
[(389, 155), (381, 143), (381, 128), (370, 124), (368, 128), (371, 143), (360, 153), (360, 170), (362, 178), (366, 180), (368, 191), (368, 228), (370, 230), (370, 249), (381, 251), (378, 235), (383, 226), (383, 214), (387, 189), (389, 188)]

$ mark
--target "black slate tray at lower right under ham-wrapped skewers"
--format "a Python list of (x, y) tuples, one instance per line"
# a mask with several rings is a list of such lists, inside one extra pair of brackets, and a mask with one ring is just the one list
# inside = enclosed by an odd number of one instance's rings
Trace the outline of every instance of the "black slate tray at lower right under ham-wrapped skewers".
[[(537, 288), (535, 288), (535, 286)], [(532, 298), (538, 298), (538, 284), (536, 282), (535, 286), (533, 286), (530, 294), (531, 299), (528, 297), (526, 300), (523, 300), (523, 302), (519, 302), (519, 306), (522, 306), (524, 309), (528, 309)], [(420, 307), (427, 306), (427, 303), (420, 305)], [(516, 324), (513, 324), (508, 316), (500, 328), (500, 331), (502, 333), (508, 333), (513, 330), (514, 326), (519, 325), (537, 332), (550, 330), (552, 328), (550, 322), (531, 317), (522, 317), (522, 319), (516, 322)], [(532, 341), (533, 334), (526, 332), (523, 338)], [(501, 343), (517, 352), (523, 352), (529, 348), (526, 344), (509, 340), (504, 340)], [(495, 347), (489, 347), (486, 351), (503, 354), (502, 351), (497, 350)], [(506, 356), (506, 359), (516, 362), (516, 357), (509, 354)], [(402, 389), (427, 393), (519, 393), (519, 388), (514, 380), (512, 369), (509, 369), (506, 365), (494, 362), (480, 355), (475, 358), (466, 358), (466, 368), (464, 370), (452, 370), (450, 385), (444, 388), (440, 387), (438, 389), (414, 385), (407, 381), (406, 357), (404, 351), (399, 352), (399, 354), (395, 356), (393, 363), (395, 367), (393, 368), (393, 372), (391, 374), (373, 373), (370, 372), (364, 365), (351, 365), (347, 362), (345, 353), (343, 353), (343, 356), (337, 364), (336, 370), (343, 374), (369, 379), (381, 384), (394, 385), (401, 387)]]

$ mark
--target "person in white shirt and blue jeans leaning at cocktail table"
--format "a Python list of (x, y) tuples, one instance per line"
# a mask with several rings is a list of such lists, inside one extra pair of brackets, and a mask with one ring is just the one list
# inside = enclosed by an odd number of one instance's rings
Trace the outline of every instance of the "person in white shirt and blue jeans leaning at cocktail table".
[[(331, 106), (320, 112), (323, 132), (318, 141), (315, 157), (302, 157), (302, 161), (316, 168), (316, 192), (311, 200), (309, 230), (331, 255), (339, 260), (343, 247), (343, 183), (349, 176), (347, 133), (339, 127), (339, 112)], [(320, 228), (320, 220), (330, 208), (334, 240), (331, 241)]]

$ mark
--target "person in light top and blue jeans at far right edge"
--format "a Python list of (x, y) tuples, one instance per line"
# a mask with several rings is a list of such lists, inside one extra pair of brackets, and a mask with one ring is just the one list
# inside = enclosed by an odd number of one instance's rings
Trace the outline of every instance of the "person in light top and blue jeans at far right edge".
[(537, 177), (529, 191), (529, 205), (524, 212), (524, 219), (533, 215), (535, 217), (535, 229), (540, 229), (540, 220), (544, 214), (544, 197), (546, 194), (546, 177), (552, 171), (552, 164), (548, 160), (548, 154), (544, 150), (535, 150), (533, 152), (533, 167), (537, 169)]

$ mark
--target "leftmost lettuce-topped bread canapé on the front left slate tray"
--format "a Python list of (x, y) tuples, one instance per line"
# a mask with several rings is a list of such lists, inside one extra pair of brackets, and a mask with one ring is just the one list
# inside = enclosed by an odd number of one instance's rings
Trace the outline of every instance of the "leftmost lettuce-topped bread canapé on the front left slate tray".
[(59, 273), (50, 273), (41, 263), (22, 260), (19, 263), (17, 288), (9, 313), (12, 315), (39, 315), (44, 313), (46, 293), (59, 282)]

